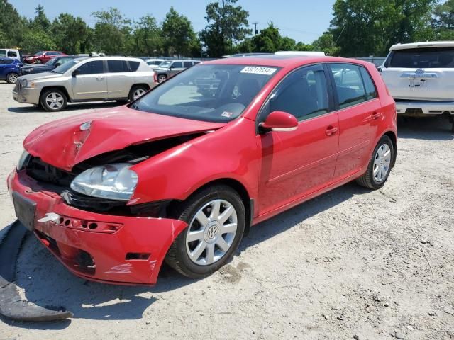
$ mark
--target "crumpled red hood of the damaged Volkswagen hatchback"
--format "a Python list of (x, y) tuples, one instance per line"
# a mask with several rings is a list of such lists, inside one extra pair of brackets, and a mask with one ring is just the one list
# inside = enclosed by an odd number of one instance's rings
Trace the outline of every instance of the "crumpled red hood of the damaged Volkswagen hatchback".
[[(87, 125), (89, 128), (85, 130)], [(41, 125), (26, 137), (23, 147), (43, 162), (71, 171), (75, 164), (104, 152), (166, 137), (215, 130), (223, 125), (121, 106)]]

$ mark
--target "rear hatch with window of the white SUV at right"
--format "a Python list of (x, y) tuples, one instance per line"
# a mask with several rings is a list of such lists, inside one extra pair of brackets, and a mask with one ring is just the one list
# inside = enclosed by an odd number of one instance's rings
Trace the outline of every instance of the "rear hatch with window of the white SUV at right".
[(382, 77), (396, 100), (454, 101), (454, 47), (393, 50)]

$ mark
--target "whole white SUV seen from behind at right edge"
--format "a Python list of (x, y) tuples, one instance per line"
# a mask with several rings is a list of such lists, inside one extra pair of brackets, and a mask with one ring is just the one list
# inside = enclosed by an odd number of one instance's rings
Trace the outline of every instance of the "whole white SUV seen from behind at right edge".
[(379, 70), (397, 114), (444, 115), (454, 132), (454, 41), (393, 45)]

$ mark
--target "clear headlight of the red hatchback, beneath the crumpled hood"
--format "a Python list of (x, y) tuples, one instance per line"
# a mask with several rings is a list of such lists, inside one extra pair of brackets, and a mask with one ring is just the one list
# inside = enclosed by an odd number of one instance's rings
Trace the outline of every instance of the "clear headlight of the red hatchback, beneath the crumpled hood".
[(129, 200), (137, 186), (138, 176), (130, 170), (131, 164), (119, 163), (95, 166), (72, 180), (71, 188), (84, 195)]

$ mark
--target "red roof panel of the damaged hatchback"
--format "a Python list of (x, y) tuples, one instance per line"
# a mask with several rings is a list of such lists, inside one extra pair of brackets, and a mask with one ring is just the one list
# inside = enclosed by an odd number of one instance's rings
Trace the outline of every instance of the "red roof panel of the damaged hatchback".
[(230, 57), (204, 62), (204, 64), (234, 64), (250, 66), (298, 67), (321, 62), (343, 62), (366, 66), (370, 62), (341, 57), (301, 56), (301, 55), (260, 55), (250, 57)]

